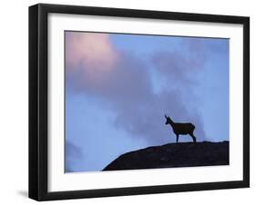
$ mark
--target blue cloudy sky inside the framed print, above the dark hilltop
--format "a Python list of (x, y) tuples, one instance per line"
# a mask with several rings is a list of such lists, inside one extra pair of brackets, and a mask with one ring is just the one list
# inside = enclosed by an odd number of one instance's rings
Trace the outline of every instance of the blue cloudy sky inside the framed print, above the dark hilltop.
[(229, 141), (229, 39), (66, 31), (65, 59), (66, 172), (175, 142), (165, 114)]

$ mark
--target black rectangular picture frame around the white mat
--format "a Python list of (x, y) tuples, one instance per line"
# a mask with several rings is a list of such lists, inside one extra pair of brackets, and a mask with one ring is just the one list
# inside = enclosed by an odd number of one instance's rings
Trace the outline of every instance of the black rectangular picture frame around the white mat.
[[(154, 185), (100, 190), (47, 190), (47, 16), (50, 13), (121, 16), (243, 25), (243, 179), (190, 184)], [(250, 18), (76, 5), (29, 7), (29, 198), (67, 200), (192, 190), (221, 190), (250, 186)]]

